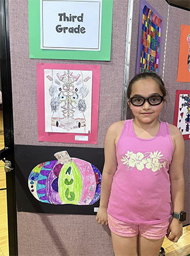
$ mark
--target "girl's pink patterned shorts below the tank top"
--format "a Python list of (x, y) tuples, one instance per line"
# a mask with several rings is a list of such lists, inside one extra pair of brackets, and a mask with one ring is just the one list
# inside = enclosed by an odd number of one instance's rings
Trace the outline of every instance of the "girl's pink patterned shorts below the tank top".
[(108, 214), (108, 225), (110, 230), (118, 236), (137, 236), (141, 234), (144, 238), (151, 240), (159, 240), (163, 238), (168, 229), (169, 221), (162, 222), (160, 224), (131, 224), (123, 221), (118, 221), (113, 216)]

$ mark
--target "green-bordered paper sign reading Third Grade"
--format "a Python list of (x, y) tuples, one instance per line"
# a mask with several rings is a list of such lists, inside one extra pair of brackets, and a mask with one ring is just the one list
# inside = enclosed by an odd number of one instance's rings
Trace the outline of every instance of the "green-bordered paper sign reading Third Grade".
[(30, 58), (110, 61), (113, 0), (28, 0)]

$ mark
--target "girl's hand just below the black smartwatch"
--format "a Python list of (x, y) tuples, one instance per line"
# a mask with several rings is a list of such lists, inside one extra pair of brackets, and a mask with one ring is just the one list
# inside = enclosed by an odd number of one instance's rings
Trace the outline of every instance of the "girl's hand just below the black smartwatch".
[(179, 238), (182, 236), (182, 231), (183, 231), (182, 222), (173, 218), (167, 230), (168, 240), (176, 243), (179, 240)]

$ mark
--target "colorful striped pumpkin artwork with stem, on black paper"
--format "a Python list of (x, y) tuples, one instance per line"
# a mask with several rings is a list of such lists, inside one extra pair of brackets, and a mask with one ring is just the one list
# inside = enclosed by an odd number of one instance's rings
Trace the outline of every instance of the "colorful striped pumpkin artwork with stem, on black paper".
[(57, 160), (39, 163), (28, 177), (34, 197), (53, 205), (92, 205), (100, 197), (101, 173), (79, 158), (70, 158), (67, 151), (54, 154)]

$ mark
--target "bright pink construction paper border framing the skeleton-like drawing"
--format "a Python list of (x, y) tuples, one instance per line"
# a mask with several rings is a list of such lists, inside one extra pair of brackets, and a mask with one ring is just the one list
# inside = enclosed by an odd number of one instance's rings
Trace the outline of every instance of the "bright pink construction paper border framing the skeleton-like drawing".
[[(92, 70), (92, 117), (89, 134), (45, 132), (44, 69)], [(100, 65), (37, 63), (38, 140), (62, 143), (97, 144)], [(76, 141), (75, 136), (88, 136), (88, 141)]]

